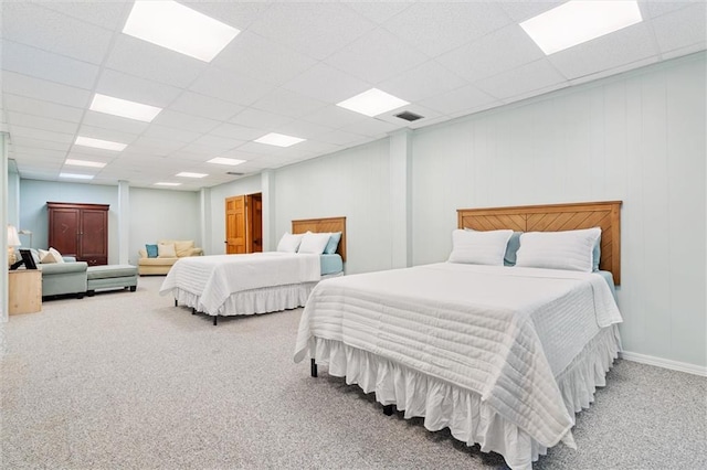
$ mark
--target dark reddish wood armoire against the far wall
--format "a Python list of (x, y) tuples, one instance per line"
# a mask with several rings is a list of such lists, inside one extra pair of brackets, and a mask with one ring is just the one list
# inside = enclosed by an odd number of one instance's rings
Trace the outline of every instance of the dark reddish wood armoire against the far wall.
[(109, 204), (48, 202), (49, 246), (88, 266), (108, 264)]

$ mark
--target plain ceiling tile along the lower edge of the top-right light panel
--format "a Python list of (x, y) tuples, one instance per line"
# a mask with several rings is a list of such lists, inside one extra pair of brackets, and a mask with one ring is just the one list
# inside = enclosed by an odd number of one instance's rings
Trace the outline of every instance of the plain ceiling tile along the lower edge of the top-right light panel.
[(562, 75), (574, 79), (592, 73), (610, 71), (657, 53), (648, 28), (645, 23), (637, 23), (551, 54), (548, 60)]

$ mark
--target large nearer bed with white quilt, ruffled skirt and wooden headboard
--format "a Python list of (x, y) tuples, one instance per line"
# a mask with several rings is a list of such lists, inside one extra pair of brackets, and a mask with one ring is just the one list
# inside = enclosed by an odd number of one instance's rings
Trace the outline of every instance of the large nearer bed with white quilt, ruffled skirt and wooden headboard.
[[(619, 209), (466, 210), (460, 227), (601, 227), (601, 267), (618, 268)], [(531, 239), (518, 265), (532, 264)], [(321, 281), (303, 312), (295, 361), (309, 356), (314, 376), (326, 364), (330, 375), (374, 392), (388, 413), (394, 405), (405, 418), (424, 417), (430, 430), (449, 427), (456, 439), (500, 453), (513, 469), (531, 468), (547, 448), (574, 446), (574, 413), (604, 385), (622, 320), (606, 279), (591, 268), (496, 264), (447, 261)]]

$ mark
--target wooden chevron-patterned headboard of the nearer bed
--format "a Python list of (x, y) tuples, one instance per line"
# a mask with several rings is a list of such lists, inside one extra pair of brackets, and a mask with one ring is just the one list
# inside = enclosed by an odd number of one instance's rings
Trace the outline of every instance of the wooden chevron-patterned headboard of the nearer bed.
[(601, 227), (599, 268), (611, 271), (621, 284), (621, 201), (571, 204), (525, 205), (515, 207), (460, 209), (460, 228), (517, 232), (561, 232)]

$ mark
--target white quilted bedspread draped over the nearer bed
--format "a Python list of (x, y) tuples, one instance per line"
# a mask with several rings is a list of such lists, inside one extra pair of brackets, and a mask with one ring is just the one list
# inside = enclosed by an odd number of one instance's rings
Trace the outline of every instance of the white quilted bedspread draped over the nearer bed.
[(555, 376), (600, 328), (621, 322), (598, 275), (441, 263), (319, 282), (299, 323), (478, 393), (542, 446), (573, 445)]

